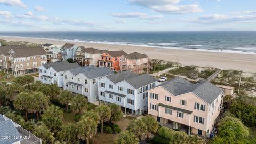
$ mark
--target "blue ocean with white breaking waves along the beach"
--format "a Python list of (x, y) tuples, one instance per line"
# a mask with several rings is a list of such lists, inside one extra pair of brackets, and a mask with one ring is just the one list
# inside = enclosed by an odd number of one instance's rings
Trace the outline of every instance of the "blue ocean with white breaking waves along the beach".
[(0, 36), (256, 54), (256, 32), (29, 32)]

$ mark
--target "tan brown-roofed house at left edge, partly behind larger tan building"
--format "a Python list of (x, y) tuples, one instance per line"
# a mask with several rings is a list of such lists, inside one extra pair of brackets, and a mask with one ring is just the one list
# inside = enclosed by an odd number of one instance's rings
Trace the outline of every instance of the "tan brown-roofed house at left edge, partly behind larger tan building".
[(8, 45), (0, 46), (0, 70), (4, 70), (5, 73), (9, 73), (8, 70), (11, 70), (11, 58), (9, 51), (25, 48), (26, 45)]

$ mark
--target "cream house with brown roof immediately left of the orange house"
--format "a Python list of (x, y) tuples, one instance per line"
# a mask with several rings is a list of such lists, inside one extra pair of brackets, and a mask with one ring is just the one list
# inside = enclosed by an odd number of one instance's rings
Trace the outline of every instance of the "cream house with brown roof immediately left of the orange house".
[(101, 54), (106, 52), (108, 52), (108, 50), (98, 50), (92, 47), (85, 48), (84, 46), (79, 46), (76, 49), (76, 55), (74, 55), (73, 61), (79, 63), (81, 66), (98, 66)]

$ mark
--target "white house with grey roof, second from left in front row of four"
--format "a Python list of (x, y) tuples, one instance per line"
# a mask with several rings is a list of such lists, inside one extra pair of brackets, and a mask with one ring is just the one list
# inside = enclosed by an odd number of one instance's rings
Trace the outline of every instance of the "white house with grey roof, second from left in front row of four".
[(65, 71), (64, 90), (82, 94), (88, 102), (98, 100), (98, 81), (102, 77), (113, 74), (109, 68), (86, 66)]

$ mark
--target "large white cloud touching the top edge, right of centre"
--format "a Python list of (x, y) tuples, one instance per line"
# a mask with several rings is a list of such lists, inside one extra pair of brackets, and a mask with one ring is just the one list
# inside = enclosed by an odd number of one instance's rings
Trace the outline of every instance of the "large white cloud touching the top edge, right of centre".
[(129, 0), (128, 2), (166, 14), (187, 14), (204, 11), (198, 4), (177, 5), (180, 0)]

